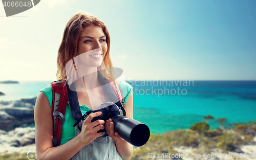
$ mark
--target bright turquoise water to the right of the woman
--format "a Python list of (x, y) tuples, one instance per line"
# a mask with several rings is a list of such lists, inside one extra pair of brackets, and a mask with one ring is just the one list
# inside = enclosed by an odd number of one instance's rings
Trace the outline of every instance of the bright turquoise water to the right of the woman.
[[(134, 119), (147, 124), (153, 133), (188, 129), (207, 115), (215, 119), (225, 117), (227, 123), (256, 120), (256, 81), (195, 81), (190, 86), (134, 84), (133, 87)], [(166, 88), (177, 91), (178, 87), (186, 89), (187, 93), (157, 95), (157, 91), (156, 94), (150, 92)], [(148, 95), (142, 95), (146, 89), (151, 90), (147, 90)], [(219, 127), (214, 120), (208, 124), (211, 128)]]

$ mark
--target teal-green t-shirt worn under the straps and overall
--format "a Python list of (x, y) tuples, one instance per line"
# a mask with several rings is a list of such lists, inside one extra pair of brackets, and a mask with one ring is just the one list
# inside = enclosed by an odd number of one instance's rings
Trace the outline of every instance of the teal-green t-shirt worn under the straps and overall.
[[(126, 104), (127, 99), (132, 93), (132, 86), (128, 84), (127, 82), (123, 80), (118, 80), (118, 84), (121, 88), (121, 92), (123, 95), (124, 105)], [(49, 85), (43, 89), (40, 90), (40, 92), (44, 93), (50, 103), (50, 106), (52, 108), (52, 86)], [(91, 110), (85, 105), (80, 106), (80, 110), (82, 112), (82, 115), (86, 113), (87, 111)], [(74, 138), (75, 134), (75, 128), (73, 127), (73, 124), (75, 124), (75, 120), (72, 117), (70, 107), (67, 104), (66, 112), (65, 112), (65, 122), (62, 124), (62, 130), (61, 130), (61, 141), (60, 145), (67, 143), (71, 139)]]

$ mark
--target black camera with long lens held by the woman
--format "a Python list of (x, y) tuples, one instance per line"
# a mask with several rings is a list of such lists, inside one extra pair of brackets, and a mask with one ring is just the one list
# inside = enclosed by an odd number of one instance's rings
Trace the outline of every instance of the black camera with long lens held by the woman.
[[(83, 118), (86, 118), (90, 113), (98, 111), (101, 112), (101, 115), (93, 118), (91, 122), (97, 120), (104, 120), (106, 122), (106, 120), (111, 119), (114, 123), (115, 132), (118, 132), (122, 139), (132, 145), (137, 147), (143, 146), (150, 138), (150, 129), (147, 125), (124, 117), (121, 108), (113, 102), (101, 104), (99, 109), (91, 110), (89, 113), (84, 114)], [(103, 136), (108, 135), (105, 128), (98, 132), (103, 132)]]

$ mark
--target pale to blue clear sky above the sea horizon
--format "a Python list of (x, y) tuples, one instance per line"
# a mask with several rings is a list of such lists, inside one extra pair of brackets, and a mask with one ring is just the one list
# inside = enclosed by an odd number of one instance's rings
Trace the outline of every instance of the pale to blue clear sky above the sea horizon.
[(6, 17), (0, 81), (54, 81), (69, 18), (102, 19), (126, 80), (256, 80), (256, 1), (43, 0)]

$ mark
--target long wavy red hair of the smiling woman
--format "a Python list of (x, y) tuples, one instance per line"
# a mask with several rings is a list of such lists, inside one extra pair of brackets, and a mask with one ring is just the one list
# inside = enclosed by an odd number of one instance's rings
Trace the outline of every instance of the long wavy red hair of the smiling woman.
[[(104, 35), (106, 36), (106, 43), (108, 44), (108, 50), (103, 58), (105, 66), (99, 66), (98, 71), (106, 78), (112, 75), (110, 68), (113, 67), (112, 61), (110, 59), (110, 34), (108, 28), (102, 20), (93, 15), (88, 15), (85, 13), (77, 13), (73, 15), (68, 24), (66, 25), (65, 31), (63, 33), (62, 42), (58, 51), (57, 58), (57, 79), (67, 82), (66, 74), (66, 64), (72, 58), (78, 56), (79, 40), (82, 33), (82, 30), (88, 26), (99, 26), (102, 28)], [(106, 68), (106, 70), (102, 70)], [(102, 72), (102, 71), (105, 71)]]

